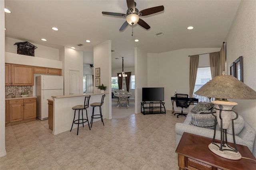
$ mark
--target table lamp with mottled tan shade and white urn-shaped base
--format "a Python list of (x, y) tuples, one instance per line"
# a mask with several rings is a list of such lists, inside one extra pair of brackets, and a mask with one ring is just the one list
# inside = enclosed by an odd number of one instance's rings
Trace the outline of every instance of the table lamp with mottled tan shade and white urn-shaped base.
[[(236, 147), (234, 135), (234, 120), (238, 118), (238, 113), (233, 109), (237, 105), (236, 102), (230, 102), (227, 99), (256, 99), (256, 91), (248, 87), (246, 84), (231, 75), (216, 76), (199, 90), (195, 92), (199, 96), (211, 98), (219, 98), (220, 100), (212, 101), (214, 109), (216, 109), (214, 137), (208, 148), (223, 158), (231, 160), (241, 159), (241, 154)], [(232, 111), (236, 114), (234, 119), (231, 118)], [(220, 143), (215, 143), (216, 121), (220, 126)], [(227, 129), (232, 122), (232, 135), (234, 148), (228, 145)]]

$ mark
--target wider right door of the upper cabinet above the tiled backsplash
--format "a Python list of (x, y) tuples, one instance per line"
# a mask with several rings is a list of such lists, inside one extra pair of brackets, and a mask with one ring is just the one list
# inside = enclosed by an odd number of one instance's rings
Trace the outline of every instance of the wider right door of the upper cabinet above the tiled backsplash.
[(33, 86), (34, 67), (12, 64), (12, 85)]

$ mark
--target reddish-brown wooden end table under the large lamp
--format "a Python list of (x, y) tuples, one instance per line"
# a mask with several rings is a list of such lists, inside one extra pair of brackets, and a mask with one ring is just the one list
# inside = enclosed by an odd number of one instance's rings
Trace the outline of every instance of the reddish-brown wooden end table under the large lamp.
[[(216, 140), (219, 142), (218, 140)], [(256, 170), (256, 160), (248, 147), (238, 145), (240, 160), (222, 158), (208, 149), (212, 139), (184, 132), (176, 149), (179, 170)], [(229, 143), (231, 147), (233, 143)]]

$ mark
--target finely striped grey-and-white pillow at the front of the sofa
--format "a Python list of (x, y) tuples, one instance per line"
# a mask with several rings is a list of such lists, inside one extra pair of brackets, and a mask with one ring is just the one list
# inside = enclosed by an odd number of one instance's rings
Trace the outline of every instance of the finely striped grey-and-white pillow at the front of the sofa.
[(212, 114), (192, 114), (189, 125), (214, 129), (214, 116)]

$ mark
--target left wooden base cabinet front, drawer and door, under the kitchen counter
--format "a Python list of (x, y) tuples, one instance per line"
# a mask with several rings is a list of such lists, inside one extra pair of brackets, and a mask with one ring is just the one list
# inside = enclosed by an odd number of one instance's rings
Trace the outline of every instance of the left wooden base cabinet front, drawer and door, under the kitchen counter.
[(23, 120), (23, 99), (9, 101), (9, 122)]

